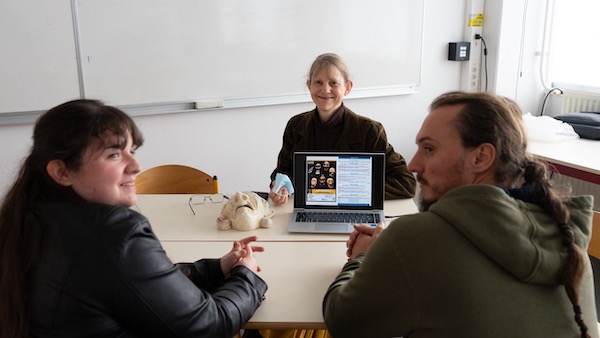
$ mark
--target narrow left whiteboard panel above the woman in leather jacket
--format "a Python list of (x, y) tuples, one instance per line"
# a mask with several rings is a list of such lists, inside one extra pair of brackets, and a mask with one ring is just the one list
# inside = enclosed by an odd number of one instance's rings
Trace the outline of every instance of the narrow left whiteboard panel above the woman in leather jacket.
[(2, 0), (0, 43), (0, 113), (79, 97), (69, 0)]

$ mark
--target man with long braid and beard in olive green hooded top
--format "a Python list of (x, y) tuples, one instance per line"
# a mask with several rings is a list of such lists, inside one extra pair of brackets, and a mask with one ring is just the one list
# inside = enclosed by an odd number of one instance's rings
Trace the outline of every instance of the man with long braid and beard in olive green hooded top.
[(593, 197), (553, 187), (516, 103), (443, 94), (416, 143), (422, 212), (356, 226), (323, 300), (332, 335), (598, 337)]

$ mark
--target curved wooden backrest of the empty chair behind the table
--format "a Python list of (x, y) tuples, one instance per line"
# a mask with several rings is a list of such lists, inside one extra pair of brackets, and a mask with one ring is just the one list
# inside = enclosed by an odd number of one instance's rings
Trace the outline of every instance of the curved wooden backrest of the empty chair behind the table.
[(138, 194), (216, 194), (217, 182), (209, 174), (186, 165), (167, 164), (150, 168), (137, 176)]

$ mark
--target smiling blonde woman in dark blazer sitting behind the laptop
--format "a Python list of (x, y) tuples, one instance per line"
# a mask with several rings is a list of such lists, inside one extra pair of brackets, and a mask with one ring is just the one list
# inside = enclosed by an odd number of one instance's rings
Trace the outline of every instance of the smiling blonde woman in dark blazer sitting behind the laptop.
[[(404, 158), (388, 143), (383, 125), (344, 106), (343, 99), (353, 85), (345, 61), (333, 53), (319, 55), (310, 68), (306, 85), (316, 107), (288, 121), (277, 167), (271, 174), (271, 188), (277, 173), (288, 175), (293, 182), (293, 155), (297, 151), (383, 152), (387, 160), (385, 198), (413, 197), (415, 178)], [(269, 197), (276, 204), (285, 204), (287, 188), (269, 189)]]

